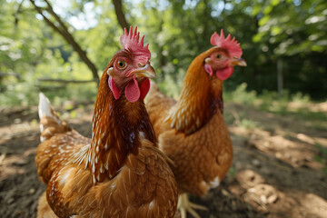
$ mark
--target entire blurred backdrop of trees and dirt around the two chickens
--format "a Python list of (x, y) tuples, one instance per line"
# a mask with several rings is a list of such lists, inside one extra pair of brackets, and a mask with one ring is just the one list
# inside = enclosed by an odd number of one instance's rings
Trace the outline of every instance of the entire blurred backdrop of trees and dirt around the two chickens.
[(233, 166), (217, 189), (192, 196), (209, 209), (201, 217), (326, 217), (326, 0), (0, 0), (1, 217), (35, 217), (45, 190), (38, 93), (90, 137), (97, 81), (130, 25), (174, 98), (214, 31), (243, 48), (247, 67), (223, 83)]

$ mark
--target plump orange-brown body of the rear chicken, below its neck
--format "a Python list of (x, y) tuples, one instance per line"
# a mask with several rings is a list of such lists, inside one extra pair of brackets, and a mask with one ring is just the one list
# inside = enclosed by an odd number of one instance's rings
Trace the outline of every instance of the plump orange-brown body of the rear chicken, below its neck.
[[(221, 84), (216, 78), (213, 78), (216, 81), (211, 81), (209, 77), (207, 80), (213, 86)], [(212, 97), (213, 95), (221, 96), (219, 94), (221, 88), (212, 88), (212, 91), (216, 94), (204, 92), (202, 94), (208, 94)], [(197, 92), (201, 92), (201, 90)], [(219, 98), (214, 101), (211, 99), (212, 105), (203, 106), (205, 98), (204, 96), (199, 98), (202, 100), (199, 102), (188, 102), (193, 106), (184, 104), (180, 110), (180, 116), (182, 117), (183, 108), (193, 107), (194, 116), (197, 116), (197, 113), (202, 114), (203, 110), (209, 110), (210, 107), (215, 106), (208, 121), (205, 123), (203, 120), (202, 122), (205, 124), (199, 123), (201, 127), (192, 134), (185, 134), (171, 127), (171, 123), (167, 120), (172, 111), (179, 105), (173, 99), (160, 93), (156, 84), (152, 84), (146, 98), (146, 108), (150, 120), (154, 124), (154, 132), (158, 138), (159, 147), (164, 154), (167, 154), (173, 160), (174, 164), (171, 165), (171, 168), (177, 181), (179, 193), (205, 195), (210, 188), (219, 185), (233, 161), (233, 144), (223, 119), (223, 113), (220, 110), (223, 103), (220, 102)], [(180, 99), (180, 101), (183, 100)], [(193, 116), (186, 109), (183, 111), (185, 114)], [(186, 122), (188, 119), (184, 118), (183, 120)], [(180, 121), (176, 122), (179, 123)], [(194, 125), (196, 126), (196, 118)]]

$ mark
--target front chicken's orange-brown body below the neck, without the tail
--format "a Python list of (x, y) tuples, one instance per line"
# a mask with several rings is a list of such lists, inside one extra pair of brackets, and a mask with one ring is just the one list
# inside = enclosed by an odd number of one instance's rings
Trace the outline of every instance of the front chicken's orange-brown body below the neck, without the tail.
[[(43, 180), (50, 178), (47, 201), (59, 217), (173, 217), (173, 173), (153, 143), (143, 139), (138, 154), (129, 154), (113, 179), (94, 184), (84, 163), (73, 163), (77, 155), (84, 155), (89, 141), (72, 131), (57, 134), (38, 147), (36, 163), (39, 169), (45, 166), (39, 174), (45, 174)], [(44, 203), (40, 201), (39, 208)]]

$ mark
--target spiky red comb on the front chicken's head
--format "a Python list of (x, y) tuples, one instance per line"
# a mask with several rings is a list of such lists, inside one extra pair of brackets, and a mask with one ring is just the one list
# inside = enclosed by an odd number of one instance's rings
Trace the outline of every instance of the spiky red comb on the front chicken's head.
[(139, 41), (140, 33), (137, 32), (137, 26), (130, 27), (129, 33), (127, 34), (126, 28), (124, 28), (124, 35), (121, 36), (121, 45), (126, 50), (130, 50), (134, 53), (135, 57), (138, 57), (146, 62), (150, 59), (151, 53), (149, 51), (149, 44), (144, 46), (144, 36), (142, 36), (141, 41)]

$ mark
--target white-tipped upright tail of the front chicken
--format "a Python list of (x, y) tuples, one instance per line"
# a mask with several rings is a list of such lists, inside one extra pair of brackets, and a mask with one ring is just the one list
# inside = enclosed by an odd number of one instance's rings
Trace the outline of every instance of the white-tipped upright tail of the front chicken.
[(63, 134), (72, 130), (68, 124), (60, 120), (45, 94), (40, 93), (39, 97), (38, 114), (40, 117), (41, 142), (45, 142), (54, 134)]

